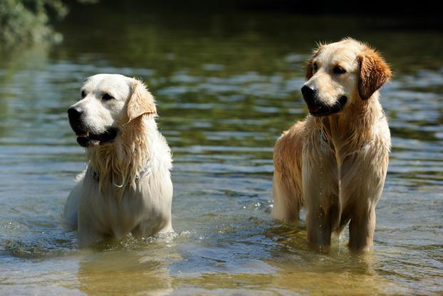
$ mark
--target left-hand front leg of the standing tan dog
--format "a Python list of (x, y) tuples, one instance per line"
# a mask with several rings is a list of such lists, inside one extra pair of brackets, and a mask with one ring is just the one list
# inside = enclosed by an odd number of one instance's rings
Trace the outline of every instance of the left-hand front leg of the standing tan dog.
[(337, 166), (330, 150), (303, 148), (302, 187), (308, 210), (308, 242), (330, 245), (330, 234), (340, 211)]

